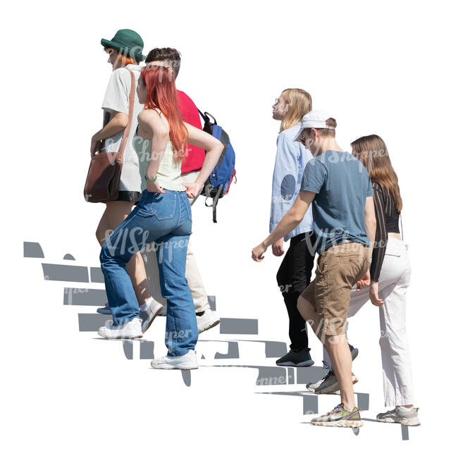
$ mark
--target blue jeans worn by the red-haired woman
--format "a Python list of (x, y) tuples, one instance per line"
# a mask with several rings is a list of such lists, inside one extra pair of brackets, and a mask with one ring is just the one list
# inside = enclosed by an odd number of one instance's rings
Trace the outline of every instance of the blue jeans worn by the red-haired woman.
[(133, 254), (156, 242), (161, 292), (167, 299), (168, 356), (179, 356), (194, 349), (199, 335), (194, 303), (185, 278), (192, 213), (185, 192), (164, 191), (165, 194), (142, 192), (140, 203), (101, 248), (100, 264), (113, 324), (127, 323), (139, 316), (139, 309), (125, 264)]

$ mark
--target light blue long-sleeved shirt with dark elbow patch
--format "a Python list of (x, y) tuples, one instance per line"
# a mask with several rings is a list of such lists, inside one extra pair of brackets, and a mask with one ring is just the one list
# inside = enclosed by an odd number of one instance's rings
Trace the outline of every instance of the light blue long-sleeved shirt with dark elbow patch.
[[(300, 123), (292, 128), (280, 132), (277, 138), (277, 156), (272, 180), (271, 221), (269, 232), (272, 232), (281, 218), (290, 210), (299, 194), (302, 175), (307, 162), (313, 158), (311, 152), (300, 142), (294, 139), (299, 134)], [(314, 230), (311, 208), (305, 213), (304, 219), (289, 234), (285, 235), (285, 242), (291, 237)]]

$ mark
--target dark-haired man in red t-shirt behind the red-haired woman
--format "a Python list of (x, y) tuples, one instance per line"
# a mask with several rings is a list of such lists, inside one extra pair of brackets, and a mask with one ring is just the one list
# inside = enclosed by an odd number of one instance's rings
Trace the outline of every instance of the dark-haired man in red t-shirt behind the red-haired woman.
[[(146, 63), (152, 63), (153, 65), (166, 66), (173, 70), (173, 76), (175, 80), (180, 70), (181, 57), (180, 53), (173, 48), (154, 48), (149, 51)], [(185, 92), (177, 89), (178, 97), (178, 108), (182, 119), (185, 123), (193, 125), (195, 128), (202, 129), (200, 123), (199, 111), (194, 102)], [(192, 183), (196, 180), (199, 171), (202, 168), (202, 163), (205, 159), (205, 150), (194, 145), (188, 145), (187, 156), (181, 164), (181, 177), (183, 183)], [(197, 198), (196, 198), (197, 199)], [(194, 204), (196, 199), (191, 201)], [(187, 257), (186, 257), (186, 279), (187, 284), (190, 287), (192, 299), (194, 300), (194, 308), (196, 309), (197, 327), (199, 333), (203, 330), (213, 328), (219, 323), (219, 318), (210, 309), (209, 300), (206, 295), (206, 290), (202, 278), (197, 268), (194, 254), (190, 249), (190, 245), (187, 246)]]

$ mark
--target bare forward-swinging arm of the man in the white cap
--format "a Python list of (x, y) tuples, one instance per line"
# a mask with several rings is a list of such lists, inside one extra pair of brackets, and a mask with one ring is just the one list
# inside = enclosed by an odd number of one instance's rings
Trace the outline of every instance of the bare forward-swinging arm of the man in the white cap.
[(303, 219), (305, 213), (309, 209), (311, 202), (315, 198), (315, 193), (311, 191), (301, 191), (296, 197), (295, 203), (292, 204), (290, 210), (283, 216), (277, 227), (268, 235), (264, 242), (252, 250), (252, 258), (254, 261), (264, 259), (262, 254), (278, 239), (289, 234)]

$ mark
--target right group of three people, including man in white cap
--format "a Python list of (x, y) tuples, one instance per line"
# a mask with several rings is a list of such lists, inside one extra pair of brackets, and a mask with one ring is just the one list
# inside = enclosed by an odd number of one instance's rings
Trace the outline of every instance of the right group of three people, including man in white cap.
[[(252, 250), (264, 259), (269, 246), (283, 256), (277, 273), (289, 317), (290, 351), (279, 366), (311, 366), (307, 323), (323, 343), (326, 376), (307, 388), (340, 392), (332, 411), (312, 419), (319, 426), (362, 425), (354, 400), (347, 317), (369, 302), (379, 308), (385, 406), (378, 421), (419, 426), (414, 407), (406, 334), (406, 292), (411, 266), (400, 236), (402, 199), (385, 142), (367, 135), (352, 154), (335, 140), (335, 117), (312, 110), (303, 89), (285, 89), (273, 105), (281, 120), (273, 171), (271, 233)], [(311, 271), (316, 260), (316, 275)]]

